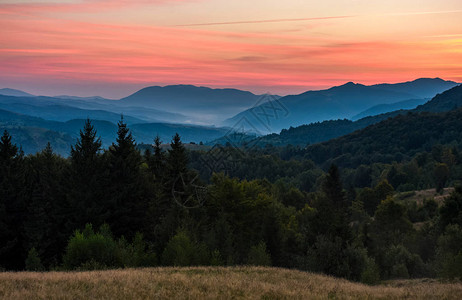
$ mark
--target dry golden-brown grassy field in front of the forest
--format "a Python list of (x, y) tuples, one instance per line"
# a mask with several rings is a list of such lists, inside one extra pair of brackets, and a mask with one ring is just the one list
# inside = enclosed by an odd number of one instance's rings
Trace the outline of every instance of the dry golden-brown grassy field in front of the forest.
[(0, 273), (0, 299), (462, 299), (462, 283), (366, 286), (263, 267)]

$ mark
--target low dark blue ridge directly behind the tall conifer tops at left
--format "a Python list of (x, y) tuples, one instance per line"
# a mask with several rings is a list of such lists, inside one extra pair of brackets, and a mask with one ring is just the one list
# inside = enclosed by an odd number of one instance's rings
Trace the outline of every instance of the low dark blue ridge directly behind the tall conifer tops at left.
[[(84, 122), (84, 119), (50, 121), (0, 109), (0, 131), (8, 130), (14, 142), (21, 145), (26, 154), (38, 152), (50, 142), (57, 153), (69, 155), (70, 146), (75, 143)], [(109, 147), (116, 139), (117, 125), (106, 120), (92, 120), (92, 123), (102, 139), (103, 147)], [(179, 133), (185, 143), (205, 143), (225, 135), (229, 130), (164, 123), (131, 124), (129, 128), (136, 142), (144, 144), (151, 144), (156, 135), (164, 142), (170, 142), (175, 133)]]

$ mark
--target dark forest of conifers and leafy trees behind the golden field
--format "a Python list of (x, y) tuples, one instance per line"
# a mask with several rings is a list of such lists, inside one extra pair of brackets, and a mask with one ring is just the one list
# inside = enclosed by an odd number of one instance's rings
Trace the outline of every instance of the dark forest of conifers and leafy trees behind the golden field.
[[(215, 169), (213, 152), (187, 150), (178, 134), (168, 149), (159, 138), (140, 147), (123, 119), (108, 149), (87, 120), (67, 158), (50, 145), (26, 156), (5, 131), (0, 267), (271, 265), (369, 284), (461, 278), (460, 131), (426, 143), (438, 126), (410, 124), (438, 116), (418, 116), (308, 147), (219, 147), (226, 160)], [(377, 138), (393, 136), (386, 122), (409, 124), (402, 141), (414, 144)], [(432, 197), (409, 200), (428, 189)]]

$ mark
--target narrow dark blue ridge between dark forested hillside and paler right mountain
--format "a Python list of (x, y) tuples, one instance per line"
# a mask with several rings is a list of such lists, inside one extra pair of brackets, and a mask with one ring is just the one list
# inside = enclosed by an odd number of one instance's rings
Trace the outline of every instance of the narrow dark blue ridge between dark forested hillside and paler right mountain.
[(271, 144), (273, 146), (294, 145), (304, 147), (309, 144), (316, 144), (349, 134), (398, 115), (419, 112), (447, 112), (458, 107), (462, 107), (462, 85), (438, 94), (432, 100), (412, 110), (396, 110), (385, 114), (365, 117), (357, 121), (343, 119), (315, 122), (283, 129), (279, 134), (262, 136), (251, 143), (260, 146)]

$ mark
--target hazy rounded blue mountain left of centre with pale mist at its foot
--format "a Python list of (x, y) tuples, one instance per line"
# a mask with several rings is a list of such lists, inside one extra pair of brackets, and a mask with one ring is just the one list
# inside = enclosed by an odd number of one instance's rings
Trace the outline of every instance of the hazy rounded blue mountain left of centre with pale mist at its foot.
[(193, 121), (219, 124), (248, 109), (260, 96), (237, 89), (193, 85), (152, 86), (122, 98), (119, 104), (166, 110), (193, 117)]

